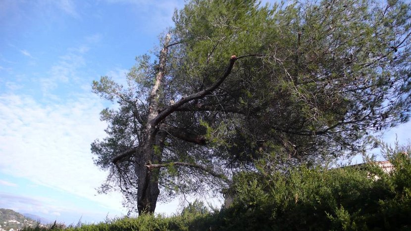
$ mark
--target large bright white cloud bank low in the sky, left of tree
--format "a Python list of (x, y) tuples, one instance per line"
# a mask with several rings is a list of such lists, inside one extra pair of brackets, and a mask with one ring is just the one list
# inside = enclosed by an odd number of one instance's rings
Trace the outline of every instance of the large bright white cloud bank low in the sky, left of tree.
[(31, 96), (0, 95), (0, 171), (120, 209), (119, 194), (95, 196), (106, 176), (90, 151), (90, 143), (104, 137), (102, 108), (92, 94), (47, 105)]

